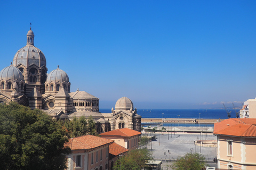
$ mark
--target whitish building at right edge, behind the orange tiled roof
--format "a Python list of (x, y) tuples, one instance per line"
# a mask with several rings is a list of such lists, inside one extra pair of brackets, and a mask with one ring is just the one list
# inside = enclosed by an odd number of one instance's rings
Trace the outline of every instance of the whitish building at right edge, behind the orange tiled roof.
[(244, 106), (240, 110), (240, 118), (256, 118), (256, 98), (244, 102)]

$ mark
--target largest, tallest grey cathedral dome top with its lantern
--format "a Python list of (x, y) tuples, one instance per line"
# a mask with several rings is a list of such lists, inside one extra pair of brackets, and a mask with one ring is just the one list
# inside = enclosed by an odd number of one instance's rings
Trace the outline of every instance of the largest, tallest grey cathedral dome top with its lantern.
[(43, 52), (34, 46), (34, 32), (29, 30), (27, 33), (27, 45), (18, 50), (14, 55), (13, 65), (19, 64), (25, 67), (36, 64), (38, 67), (46, 66), (46, 59)]

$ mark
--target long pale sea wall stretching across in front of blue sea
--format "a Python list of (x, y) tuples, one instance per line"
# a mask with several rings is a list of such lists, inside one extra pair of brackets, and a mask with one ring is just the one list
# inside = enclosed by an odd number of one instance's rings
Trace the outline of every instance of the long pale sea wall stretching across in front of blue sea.
[(141, 118), (142, 123), (165, 122), (165, 123), (217, 123), (224, 119), (213, 118)]

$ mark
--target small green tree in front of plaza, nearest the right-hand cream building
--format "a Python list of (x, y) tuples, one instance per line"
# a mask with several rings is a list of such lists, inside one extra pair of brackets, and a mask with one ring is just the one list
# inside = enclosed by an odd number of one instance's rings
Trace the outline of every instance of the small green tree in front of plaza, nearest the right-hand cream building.
[(179, 157), (177, 161), (172, 164), (175, 170), (197, 170), (207, 166), (205, 157), (202, 154), (187, 153), (183, 157)]

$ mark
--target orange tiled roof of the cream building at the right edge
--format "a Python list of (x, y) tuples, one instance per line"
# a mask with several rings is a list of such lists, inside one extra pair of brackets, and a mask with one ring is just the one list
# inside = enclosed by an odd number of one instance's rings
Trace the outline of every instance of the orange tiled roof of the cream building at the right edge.
[(214, 124), (214, 134), (256, 137), (256, 118), (229, 118)]

